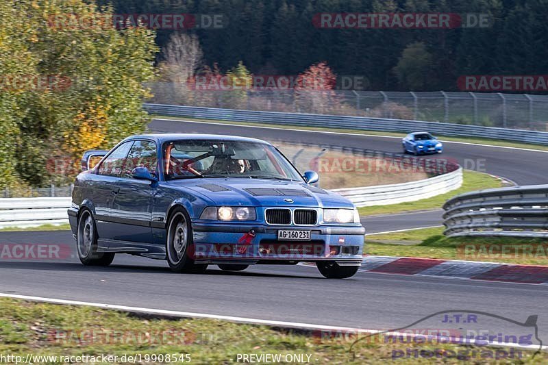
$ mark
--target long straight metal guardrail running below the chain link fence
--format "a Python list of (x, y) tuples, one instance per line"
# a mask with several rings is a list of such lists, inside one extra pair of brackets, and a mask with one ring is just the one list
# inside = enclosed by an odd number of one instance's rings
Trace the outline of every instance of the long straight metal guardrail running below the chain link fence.
[(188, 118), (266, 124), (300, 125), (305, 127), (328, 127), (370, 131), (401, 131), (406, 133), (424, 130), (433, 134), (441, 134), (444, 136), (471, 136), (536, 144), (548, 144), (548, 132), (545, 131), (482, 127), (479, 125), (406, 121), (401, 119), (368, 118), (362, 116), (258, 112), (252, 110), (215, 109), (164, 104), (144, 104), (144, 108), (150, 114), (164, 116), (182, 116)]

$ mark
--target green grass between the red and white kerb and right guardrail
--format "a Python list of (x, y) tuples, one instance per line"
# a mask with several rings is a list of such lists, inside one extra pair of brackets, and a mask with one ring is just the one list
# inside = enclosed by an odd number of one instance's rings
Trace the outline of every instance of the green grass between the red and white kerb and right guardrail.
[(548, 265), (547, 240), (503, 237), (446, 237), (444, 227), (366, 236), (366, 253), (443, 260)]

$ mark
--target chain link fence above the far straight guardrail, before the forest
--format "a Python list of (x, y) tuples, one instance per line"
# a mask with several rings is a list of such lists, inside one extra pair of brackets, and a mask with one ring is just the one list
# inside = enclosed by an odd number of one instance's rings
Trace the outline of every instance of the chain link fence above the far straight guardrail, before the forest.
[(484, 127), (548, 131), (548, 96), (481, 92), (356, 90), (191, 90), (185, 84), (149, 84), (148, 103), (369, 116)]

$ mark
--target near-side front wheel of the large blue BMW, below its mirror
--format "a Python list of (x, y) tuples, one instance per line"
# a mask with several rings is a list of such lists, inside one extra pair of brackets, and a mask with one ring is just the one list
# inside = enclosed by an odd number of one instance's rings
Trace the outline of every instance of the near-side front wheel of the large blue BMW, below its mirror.
[(207, 264), (195, 264), (192, 257), (192, 225), (190, 216), (182, 207), (176, 207), (166, 227), (166, 260), (175, 273), (204, 273)]

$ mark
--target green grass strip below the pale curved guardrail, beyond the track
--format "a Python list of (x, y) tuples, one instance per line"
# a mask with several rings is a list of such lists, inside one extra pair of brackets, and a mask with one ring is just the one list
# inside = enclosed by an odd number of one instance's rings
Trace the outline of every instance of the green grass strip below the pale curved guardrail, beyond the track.
[(373, 205), (372, 207), (360, 207), (358, 210), (360, 211), (361, 216), (371, 216), (375, 214), (393, 214), (414, 210), (439, 209), (447, 199), (450, 199), (455, 195), (474, 190), (500, 188), (501, 186), (501, 181), (496, 177), (478, 173), (476, 171), (464, 171), (462, 175), (462, 186), (456, 190), (418, 201), (390, 205)]

